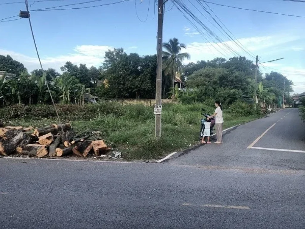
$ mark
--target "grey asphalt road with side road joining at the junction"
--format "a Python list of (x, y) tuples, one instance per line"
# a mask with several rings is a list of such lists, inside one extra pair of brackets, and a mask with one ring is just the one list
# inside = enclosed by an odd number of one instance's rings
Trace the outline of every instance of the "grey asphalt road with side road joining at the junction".
[(254, 147), (304, 150), (287, 109), (160, 164), (0, 158), (0, 228), (304, 228), (305, 153), (247, 149), (274, 123)]

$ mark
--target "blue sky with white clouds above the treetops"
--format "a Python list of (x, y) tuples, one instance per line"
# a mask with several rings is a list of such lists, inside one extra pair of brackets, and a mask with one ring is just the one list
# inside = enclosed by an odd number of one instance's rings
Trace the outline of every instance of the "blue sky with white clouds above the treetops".
[[(19, 1), (22, 0), (0, 0), (0, 4)], [(87, 1), (89, 0), (35, 2), (30, 10)], [(70, 7), (117, 1), (103, 0)], [(34, 1), (30, 0), (30, 2)], [(144, 23), (137, 17), (135, 2), (141, 20), (145, 20), (150, 5), (148, 18)], [(199, 8), (200, 5), (195, 0), (183, 2), (227, 45), (248, 59), (255, 60), (218, 31), (200, 13), (204, 11)], [(196, 5), (200, 12), (190, 2)], [(210, 2), (305, 16), (305, 3), (300, 2), (282, 0), (210, 0)], [(223, 49), (226, 48), (222, 43), (211, 44), (213, 41), (210, 38), (207, 42), (178, 9), (175, 7), (171, 9), (171, 6), (169, 0), (166, 7), (170, 10), (164, 17), (164, 41), (176, 37), (185, 43), (192, 62), (211, 60), (216, 56), (224, 57), (217, 51), (224, 53)], [(251, 12), (212, 4), (209, 6), (239, 42), (254, 55), (259, 56), (261, 62), (284, 57), (284, 60), (264, 64), (265, 68), (261, 66), (260, 70), (263, 73), (278, 69), (295, 83), (295, 93), (305, 91), (305, 30), (303, 29), (305, 18)], [(25, 9), (25, 5), (23, 3), (0, 5), (0, 9), (1, 20), (19, 14), (19, 10)], [(204, 15), (212, 21), (205, 12)], [(157, 10), (154, 0), (142, 0), (142, 3), (141, 0), (130, 0), (89, 9), (31, 12), (31, 20), (44, 68), (52, 67), (59, 71), (60, 66), (66, 61), (98, 67), (102, 64), (105, 51), (114, 47), (123, 47), (127, 53), (137, 52), (140, 55), (156, 53)], [(0, 54), (11, 55), (22, 62), (29, 71), (39, 67), (27, 19), (0, 23), (0, 34)], [(226, 51), (227, 59), (234, 56)]]

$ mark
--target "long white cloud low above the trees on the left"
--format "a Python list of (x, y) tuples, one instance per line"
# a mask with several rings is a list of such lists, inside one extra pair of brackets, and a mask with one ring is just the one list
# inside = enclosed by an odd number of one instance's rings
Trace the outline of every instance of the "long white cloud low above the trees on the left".
[[(113, 47), (99, 45), (80, 45), (75, 47), (75, 53), (69, 53), (55, 57), (41, 56), (41, 63), (45, 69), (51, 67), (57, 71), (60, 71), (60, 67), (63, 66), (66, 61), (71, 61), (73, 64), (86, 64), (87, 67), (98, 67), (102, 64), (105, 56), (105, 51), (108, 51), (108, 49), (113, 49)], [(39, 61), (36, 56), (30, 57), (5, 49), (0, 49), (0, 54), (5, 56), (10, 55), (14, 60), (23, 63), (29, 72), (40, 68)]]

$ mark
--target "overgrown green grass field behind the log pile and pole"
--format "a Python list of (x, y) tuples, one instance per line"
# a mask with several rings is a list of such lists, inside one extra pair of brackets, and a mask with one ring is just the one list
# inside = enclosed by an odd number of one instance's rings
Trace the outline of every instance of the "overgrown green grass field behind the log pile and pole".
[[(213, 104), (212, 104), (213, 105)], [(103, 103), (97, 105), (60, 105), (63, 122), (70, 121), (77, 133), (100, 131), (102, 137), (114, 143), (129, 159), (156, 159), (182, 150), (199, 141), (201, 109), (213, 114), (214, 107), (206, 104), (165, 104), (162, 113), (162, 138), (154, 138), (153, 108), (144, 105)], [(6, 109), (6, 110), (5, 110)], [(40, 105), (0, 109), (0, 115), (10, 125), (41, 127), (58, 123), (52, 106)], [(24, 109), (24, 110), (22, 110)], [(246, 123), (263, 115), (240, 115), (241, 111), (224, 109), (224, 128)], [(9, 114), (9, 115), (8, 115)]]

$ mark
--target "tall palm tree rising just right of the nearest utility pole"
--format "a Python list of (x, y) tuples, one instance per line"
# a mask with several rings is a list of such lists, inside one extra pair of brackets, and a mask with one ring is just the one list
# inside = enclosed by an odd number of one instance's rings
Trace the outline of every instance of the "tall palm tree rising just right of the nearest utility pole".
[(180, 53), (181, 49), (186, 49), (186, 45), (179, 43), (177, 38), (170, 39), (169, 42), (163, 43), (163, 69), (165, 74), (172, 78), (172, 88), (173, 88), (173, 99), (175, 97), (175, 87), (174, 81), (177, 75), (182, 74), (183, 64), (182, 61), (185, 59), (190, 59), (188, 53)]

